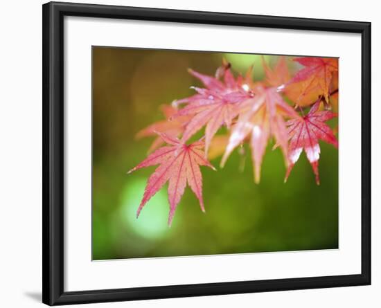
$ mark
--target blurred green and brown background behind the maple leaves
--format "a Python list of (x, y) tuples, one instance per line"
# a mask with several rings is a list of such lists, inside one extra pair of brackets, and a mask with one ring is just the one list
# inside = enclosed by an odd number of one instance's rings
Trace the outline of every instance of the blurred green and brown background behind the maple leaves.
[[(283, 183), (283, 156), (270, 142), (260, 184), (249, 149), (246, 157), (236, 150), (218, 172), (201, 167), (206, 213), (186, 188), (168, 228), (165, 185), (136, 219), (155, 169), (126, 174), (152, 143), (136, 133), (163, 119), (160, 105), (193, 94), (200, 82), (188, 68), (214, 75), (223, 58), (233, 72), (253, 64), (254, 79), (263, 78), (260, 55), (93, 47), (93, 260), (338, 248), (338, 152), (326, 143), (319, 186), (304, 153)], [(272, 66), (277, 57), (265, 60)]]

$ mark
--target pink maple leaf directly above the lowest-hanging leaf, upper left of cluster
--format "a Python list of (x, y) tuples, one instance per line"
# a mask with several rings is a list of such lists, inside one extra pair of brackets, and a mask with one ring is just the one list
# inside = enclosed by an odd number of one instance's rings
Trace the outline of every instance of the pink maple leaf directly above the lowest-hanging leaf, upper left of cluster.
[(215, 133), (222, 125), (228, 128), (233, 118), (238, 116), (240, 111), (239, 103), (254, 96), (250, 91), (248, 71), (246, 78), (239, 76), (237, 80), (233, 77), (229, 66), (218, 69), (216, 75), (223, 75), (223, 82), (218, 78), (203, 75), (193, 70), (189, 70), (190, 74), (200, 79), (205, 88), (193, 87), (197, 94), (178, 100), (177, 104), (186, 103), (186, 107), (180, 109), (177, 116), (193, 116), (186, 125), (184, 134), (181, 138), (182, 142), (198, 132), (204, 125), (205, 128), (205, 153), (208, 153), (211, 140)]

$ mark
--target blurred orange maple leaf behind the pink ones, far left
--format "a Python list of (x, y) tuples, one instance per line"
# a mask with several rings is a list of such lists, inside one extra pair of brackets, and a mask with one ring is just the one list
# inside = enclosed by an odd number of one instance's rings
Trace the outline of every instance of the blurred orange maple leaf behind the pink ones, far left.
[(178, 109), (171, 105), (161, 105), (161, 112), (166, 117), (166, 120), (160, 120), (155, 123), (152, 123), (148, 127), (141, 129), (140, 132), (136, 134), (136, 138), (150, 137), (155, 136), (152, 145), (148, 152), (156, 150), (158, 147), (163, 145), (163, 139), (160, 136), (157, 136), (157, 132), (165, 133), (168, 136), (178, 137), (180, 136), (185, 129), (186, 123), (189, 122), (189, 116), (179, 116), (172, 119)]

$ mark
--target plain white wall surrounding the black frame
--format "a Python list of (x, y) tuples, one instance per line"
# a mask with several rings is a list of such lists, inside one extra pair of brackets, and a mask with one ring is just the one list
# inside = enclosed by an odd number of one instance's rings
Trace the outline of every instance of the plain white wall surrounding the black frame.
[[(373, 100), (373, 284), (308, 291), (283, 291), (202, 298), (129, 302), (128, 307), (380, 307), (381, 10), (378, 1), (82, 1), (125, 6), (314, 17), (372, 22)], [(3, 1), (0, 27), (0, 302), (1, 307), (41, 305), (42, 216), (42, 5), (43, 1)], [(377, 75), (377, 76), (376, 76)], [(5, 93), (5, 96), (4, 96)], [(360, 102), (359, 102), (360, 103)], [(351, 176), (351, 170), (348, 170)], [(125, 307), (124, 302), (90, 305)], [(87, 305), (88, 307), (89, 305)]]

